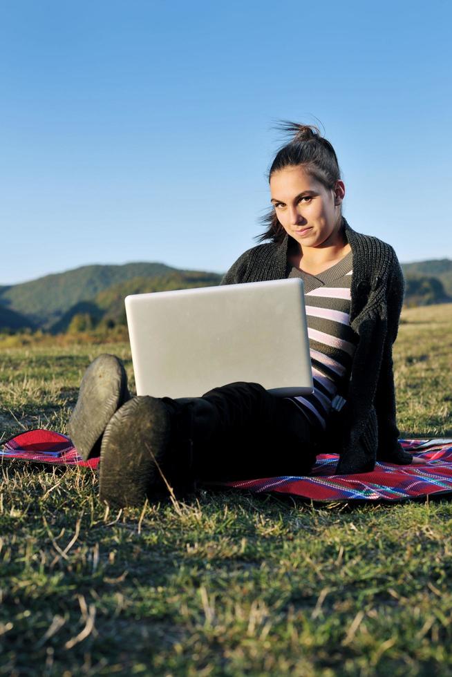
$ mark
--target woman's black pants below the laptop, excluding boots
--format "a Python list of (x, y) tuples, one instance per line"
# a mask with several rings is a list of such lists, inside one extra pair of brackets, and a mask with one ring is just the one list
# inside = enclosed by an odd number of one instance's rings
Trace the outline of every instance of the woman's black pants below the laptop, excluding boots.
[(198, 479), (310, 473), (315, 462), (312, 427), (289, 399), (272, 395), (258, 383), (230, 383), (193, 402)]

